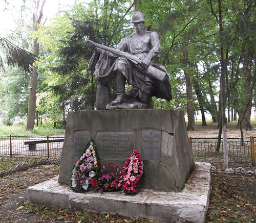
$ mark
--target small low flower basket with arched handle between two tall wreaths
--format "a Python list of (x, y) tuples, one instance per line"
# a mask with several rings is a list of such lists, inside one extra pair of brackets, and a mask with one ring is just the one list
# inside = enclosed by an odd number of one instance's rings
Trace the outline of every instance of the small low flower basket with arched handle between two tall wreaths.
[[(109, 166), (116, 168), (116, 173), (103, 174), (103, 170)], [(101, 167), (98, 179), (92, 179), (92, 186), (100, 192), (110, 192), (118, 190), (122, 185), (121, 169), (114, 163), (107, 163)]]

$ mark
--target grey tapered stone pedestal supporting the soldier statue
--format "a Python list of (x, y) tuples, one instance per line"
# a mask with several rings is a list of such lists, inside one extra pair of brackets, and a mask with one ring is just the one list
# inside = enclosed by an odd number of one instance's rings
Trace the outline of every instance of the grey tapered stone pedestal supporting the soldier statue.
[(182, 111), (77, 111), (67, 119), (59, 183), (70, 183), (74, 163), (90, 138), (101, 165), (122, 167), (134, 149), (139, 151), (144, 169), (138, 188), (182, 191), (194, 165)]

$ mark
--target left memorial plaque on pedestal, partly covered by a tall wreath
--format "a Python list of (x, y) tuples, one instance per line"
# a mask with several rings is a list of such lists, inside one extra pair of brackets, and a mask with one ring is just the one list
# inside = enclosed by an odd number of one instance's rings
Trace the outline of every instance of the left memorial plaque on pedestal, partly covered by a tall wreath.
[(73, 158), (79, 158), (82, 155), (84, 147), (91, 139), (90, 131), (75, 131), (74, 146), (73, 146)]

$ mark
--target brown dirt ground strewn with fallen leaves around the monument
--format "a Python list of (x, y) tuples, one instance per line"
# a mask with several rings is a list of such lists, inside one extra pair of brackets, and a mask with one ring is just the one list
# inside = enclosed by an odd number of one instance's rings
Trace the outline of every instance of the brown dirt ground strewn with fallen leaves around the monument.
[[(240, 131), (234, 129), (235, 123), (228, 127), (228, 138), (240, 137)], [(193, 138), (216, 138), (216, 123), (208, 123), (207, 127), (197, 125), (196, 131), (189, 131)], [(244, 137), (256, 137), (255, 128), (244, 132)], [(15, 166), (22, 159), (0, 156), (0, 167), (4, 169)], [(25, 159), (25, 158), (24, 158)], [(206, 222), (256, 222), (256, 176), (223, 174), (222, 166), (216, 165), (218, 173), (211, 174), (210, 204)], [(251, 164), (242, 165), (246, 170), (255, 170)], [(235, 169), (236, 165), (229, 165)], [(0, 168), (1, 169), (1, 168)], [(3, 169), (3, 168), (2, 168)], [(58, 175), (58, 165), (45, 165), (18, 171), (0, 178), (0, 222), (152, 222), (148, 219), (124, 218), (97, 214), (88, 211), (77, 211), (49, 206), (29, 204), (28, 186), (49, 180)]]

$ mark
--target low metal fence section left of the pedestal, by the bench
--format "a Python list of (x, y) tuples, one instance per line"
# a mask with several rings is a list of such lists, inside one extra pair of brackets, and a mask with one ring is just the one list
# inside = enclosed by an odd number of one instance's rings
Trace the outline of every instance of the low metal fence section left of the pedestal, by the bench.
[(64, 137), (0, 136), (0, 155), (60, 158)]

